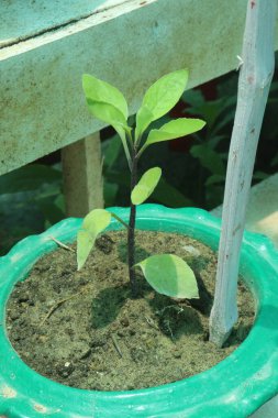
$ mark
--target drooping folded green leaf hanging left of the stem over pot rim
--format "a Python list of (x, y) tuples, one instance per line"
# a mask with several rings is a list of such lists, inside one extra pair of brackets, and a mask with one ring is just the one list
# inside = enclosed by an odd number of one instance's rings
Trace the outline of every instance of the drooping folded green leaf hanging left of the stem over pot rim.
[(77, 234), (77, 268), (84, 266), (96, 239), (111, 221), (111, 213), (105, 209), (93, 209), (84, 219), (82, 229)]

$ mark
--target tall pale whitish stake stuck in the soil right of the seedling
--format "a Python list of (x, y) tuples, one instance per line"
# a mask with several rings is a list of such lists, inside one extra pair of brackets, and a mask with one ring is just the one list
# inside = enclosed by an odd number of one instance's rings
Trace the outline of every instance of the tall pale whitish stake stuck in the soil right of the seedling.
[(237, 320), (236, 289), (246, 205), (274, 74), (277, 0), (248, 0), (237, 107), (229, 153), (210, 341), (222, 346)]

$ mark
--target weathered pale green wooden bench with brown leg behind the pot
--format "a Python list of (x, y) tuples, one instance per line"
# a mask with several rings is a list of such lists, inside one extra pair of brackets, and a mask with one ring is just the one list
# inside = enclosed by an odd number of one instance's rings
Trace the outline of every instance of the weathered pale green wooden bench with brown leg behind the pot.
[(87, 112), (81, 75), (116, 85), (132, 114), (165, 73), (188, 67), (191, 88), (231, 72), (246, 1), (1, 2), (0, 175), (63, 148), (68, 213), (101, 206), (104, 125)]

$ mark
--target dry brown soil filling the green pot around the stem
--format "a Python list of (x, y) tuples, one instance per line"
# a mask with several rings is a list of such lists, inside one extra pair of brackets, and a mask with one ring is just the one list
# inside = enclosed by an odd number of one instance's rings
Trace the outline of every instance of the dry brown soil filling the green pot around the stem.
[(59, 249), (41, 258), (8, 302), (9, 338), (42, 375), (86, 389), (156, 386), (200, 373), (223, 360), (247, 336), (254, 304), (240, 283), (240, 321), (226, 346), (208, 341), (215, 254), (184, 235), (136, 232), (137, 261), (175, 253), (193, 268), (200, 299), (156, 294), (138, 272), (141, 295), (131, 298), (126, 238), (112, 232), (80, 272), (75, 252)]

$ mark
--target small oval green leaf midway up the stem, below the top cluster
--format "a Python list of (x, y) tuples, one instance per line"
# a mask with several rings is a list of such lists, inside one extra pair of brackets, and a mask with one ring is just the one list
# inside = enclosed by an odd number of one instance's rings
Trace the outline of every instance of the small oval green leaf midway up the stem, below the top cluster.
[(154, 191), (159, 178), (162, 176), (162, 168), (153, 167), (143, 174), (137, 185), (131, 194), (131, 201), (133, 205), (141, 205)]

